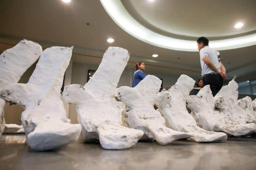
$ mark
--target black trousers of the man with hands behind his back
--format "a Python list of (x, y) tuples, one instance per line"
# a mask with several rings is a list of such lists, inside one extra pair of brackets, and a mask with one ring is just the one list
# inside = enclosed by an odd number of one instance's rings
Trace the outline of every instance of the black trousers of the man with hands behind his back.
[(223, 86), (223, 78), (219, 74), (205, 74), (204, 75), (204, 86), (210, 85), (212, 95), (215, 96)]

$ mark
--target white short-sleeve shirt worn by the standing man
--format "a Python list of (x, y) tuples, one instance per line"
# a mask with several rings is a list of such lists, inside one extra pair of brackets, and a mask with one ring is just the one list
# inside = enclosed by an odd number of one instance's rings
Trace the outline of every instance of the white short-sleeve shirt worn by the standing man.
[(200, 63), (202, 68), (202, 76), (209, 73), (215, 73), (212, 69), (210, 69), (203, 61), (203, 58), (206, 56), (209, 56), (212, 63), (217, 67), (218, 70), (220, 70), (220, 63), (218, 59), (218, 55), (220, 54), (219, 51), (214, 51), (209, 46), (205, 46), (199, 51), (200, 54)]

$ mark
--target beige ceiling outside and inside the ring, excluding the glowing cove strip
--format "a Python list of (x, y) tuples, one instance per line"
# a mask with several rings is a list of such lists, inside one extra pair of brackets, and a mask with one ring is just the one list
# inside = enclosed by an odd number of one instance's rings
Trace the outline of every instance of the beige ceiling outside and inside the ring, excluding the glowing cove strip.
[[(158, 33), (169, 36), (175, 34), (175, 36), (188, 39), (194, 37), (195, 43), (199, 36), (216, 36), (212, 37), (214, 39), (217, 36), (236, 34), (232, 35), (235, 37), (241, 35), (241, 33), (244, 35), (256, 30), (256, 22), (255, 19), (253, 20), (256, 11), (255, 1), (232, 1), (232, 3), (218, 0), (155, 0), (153, 3), (157, 4), (156, 9), (154, 9), (152, 2), (150, 2), (150, 8), (145, 6), (145, 3), (149, 3), (148, 0), (125, 0), (122, 2), (127, 9), (130, 8), (128, 11), (131, 12), (132, 16), (135, 17), (134, 13), (140, 11), (140, 16), (143, 16), (145, 21), (154, 26), (149, 26), (152, 30), (158, 30)], [(241, 5), (241, 2), (244, 2), (244, 5)], [(251, 5), (248, 5), (248, 3), (251, 3)], [(140, 10), (143, 8), (143, 4), (148, 10)], [(246, 4), (247, 10), (244, 10)], [(243, 7), (243, 10), (234, 12), (236, 9), (240, 9), (240, 6)], [(191, 10), (188, 10), (189, 7), (191, 7)], [(217, 11), (216, 16), (212, 14), (205, 15), (202, 14), (202, 11), (207, 12), (205, 8), (208, 8), (211, 12), (213, 12), (213, 9), (215, 11), (219, 8), (222, 12), (220, 15)], [(149, 15), (149, 9), (154, 9), (155, 15)], [(159, 10), (162, 12), (159, 13)], [(169, 17), (161, 17), (164, 13)], [(235, 13), (237, 14), (235, 15)], [(130, 52), (128, 68), (134, 68), (136, 62), (144, 61), (146, 63), (146, 73), (157, 72), (176, 76), (187, 74), (195, 79), (201, 77), (198, 52), (160, 48), (134, 38), (116, 25), (99, 0), (72, 0), (69, 4), (61, 0), (8, 0), (1, 3), (0, 14), (1, 52), (11, 48), (22, 38), (26, 38), (38, 42), (43, 48), (74, 45), (72, 55), (74, 63), (99, 65), (108, 46), (118, 46), (126, 48)], [(239, 31), (233, 29), (233, 21), (235, 22), (239, 18), (238, 16), (246, 21), (245, 26)], [(214, 19), (214, 24), (208, 21), (207, 18), (209, 17)], [(144, 21), (140, 17), (135, 17), (135, 19), (144, 26), (148, 26), (147, 23), (143, 23)], [(200, 26), (199, 23), (202, 23), (202, 19), (205, 21), (204, 25), (207, 25), (207, 29)], [(89, 26), (86, 23), (90, 23)], [(208, 27), (208, 25), (218, 26), (216, 28)], [(204, 32), (200, 34), (203, 30)], [(207, 31), (205, 32), (205, 30)], [(109, 37), (112, 37), (115, 41), (108, 43), (106, 40)], [(209, 39), (211, 41), (211, 38)], [(153, 58), (153, 54), (159, 56)], [(239, 77), (240, 79), (256, 77), (255, 54), (256, 46), (220, 51), (222, 63), (227, 68), (228, 76), (231, 78), (236, 74), (238, 79)]]

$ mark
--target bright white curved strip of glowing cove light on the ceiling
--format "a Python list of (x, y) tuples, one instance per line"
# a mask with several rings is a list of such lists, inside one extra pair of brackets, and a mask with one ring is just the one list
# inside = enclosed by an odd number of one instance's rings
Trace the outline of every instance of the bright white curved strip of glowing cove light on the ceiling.
[[(132, 18), (124, 8), (121, 0), (100, 0), (100, 2), (116, 24), (135, 38), (161, 48), (198, 52), (196, 45), (197, 38), (195, 38), (195, 41), (188, 41), (155, 33)], [(256, 45), (256, 33), (236, 38), (210, 41), (209, 45), (215, 50), (227, 50)]]

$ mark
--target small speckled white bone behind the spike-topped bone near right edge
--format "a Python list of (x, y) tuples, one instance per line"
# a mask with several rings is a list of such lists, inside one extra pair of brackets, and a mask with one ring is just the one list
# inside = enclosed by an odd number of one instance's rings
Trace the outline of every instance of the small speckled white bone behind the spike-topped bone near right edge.
[(256, 120), (256, 111), (252, 107), (252, 98), (246, 96), (243, 99), (237, 100), (237, 104), (247, 112), (251, 119)]

